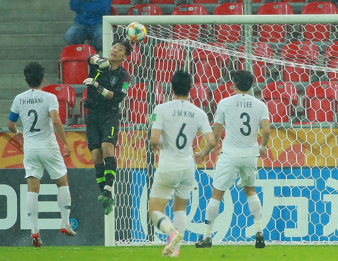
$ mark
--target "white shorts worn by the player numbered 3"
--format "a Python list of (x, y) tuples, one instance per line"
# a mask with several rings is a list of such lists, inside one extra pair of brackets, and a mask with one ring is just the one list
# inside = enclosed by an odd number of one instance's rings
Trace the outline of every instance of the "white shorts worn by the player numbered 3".
[(220, 156), (216, 163), (213, 187), (218, 190), (228, 190), (236, 181), (237, 175), (240, 174), (239, 187), (255, 185), (257, 175), (258, 157), (246, 158), (226, 158)]

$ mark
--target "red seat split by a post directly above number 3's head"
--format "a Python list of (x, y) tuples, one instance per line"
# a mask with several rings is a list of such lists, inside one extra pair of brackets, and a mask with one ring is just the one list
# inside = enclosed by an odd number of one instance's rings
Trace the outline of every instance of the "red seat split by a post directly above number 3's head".
[[(273, 49), (271, 48), (270, 45), (266, 43), (258, 42), (258, 43), (254, 43), (253, 48), (254, 48), (253, 49), (254, 56), (273, 59)], [(245, 49), (245, 46), (242, 45), (238, 49), (238, 51), (244, 53), (244, 49)], [(245, 59), (239, 58), (237, 62), (238, 62), (237, 70), (244, 70)], [(254, 65), (255, 82), (264, 83), (265, 77), (269, 76), (270, 70), (268, 70), (268, 67), (270, 66), (270, 64), (266, 62), (262, 62), (262, 61), (253, 61), (253, 65)]]

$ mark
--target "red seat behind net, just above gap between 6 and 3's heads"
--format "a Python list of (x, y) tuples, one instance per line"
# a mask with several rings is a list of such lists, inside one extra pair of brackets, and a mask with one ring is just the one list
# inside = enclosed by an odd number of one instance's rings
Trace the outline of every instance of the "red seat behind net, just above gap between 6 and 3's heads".
[[(221, 49), (227, 49), (220, 43), (208, 43)], [(226, 66), (229, 64), (229, 55), (194, 49), (192, 52), (192, 75), (195, 83), (220, 83), (226, 75)]]

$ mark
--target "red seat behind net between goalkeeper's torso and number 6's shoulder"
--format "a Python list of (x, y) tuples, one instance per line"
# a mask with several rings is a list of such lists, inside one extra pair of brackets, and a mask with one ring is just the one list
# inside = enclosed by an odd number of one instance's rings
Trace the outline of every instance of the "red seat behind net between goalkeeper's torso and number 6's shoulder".
[[(147, 103), (148, 84), (136, 84), (128, 89), (128, 95), (125, 100), (127, 119), (130, 124), (146, 123), (148, 115)], [(154, 86), (155, 102), (160, 104), (164, 102), (164, 92), (159, 85)]]

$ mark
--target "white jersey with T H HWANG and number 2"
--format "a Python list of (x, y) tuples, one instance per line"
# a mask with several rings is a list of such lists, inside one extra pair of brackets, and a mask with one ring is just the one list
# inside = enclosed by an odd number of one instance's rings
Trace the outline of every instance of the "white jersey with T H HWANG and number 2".
[(19, 114), (23, 124), (24, 150), (59, 149), (49, 112), (59, 111), (55, 94), (29, 89), (14, 98), (12, 112)]

